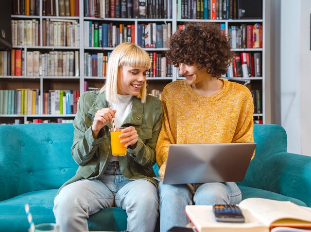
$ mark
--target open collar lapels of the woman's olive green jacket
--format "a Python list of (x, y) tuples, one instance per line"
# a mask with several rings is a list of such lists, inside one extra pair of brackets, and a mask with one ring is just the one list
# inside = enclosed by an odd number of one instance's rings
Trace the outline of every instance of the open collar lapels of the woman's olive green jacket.
[[(93, 105), (89, 108), (87, 113), (92, 115), (92, 117), (94, 118), (98, 109), (107, 107), (109, 107), (109, 104), (106, 100), (105, 92), (98, 93), (97, 97), (94, 100)], [(141, 100), (136, 96), (134, 96), (132, 110), (129, 113), (129, 115), (125, 118), (123, 125), (124, 124), (142, 125), (143, 113), (144, 113), (144, 106), (141, 103)], [(110, 127), (112, 126), (112, 123), (109, 123), (107, 125)]]

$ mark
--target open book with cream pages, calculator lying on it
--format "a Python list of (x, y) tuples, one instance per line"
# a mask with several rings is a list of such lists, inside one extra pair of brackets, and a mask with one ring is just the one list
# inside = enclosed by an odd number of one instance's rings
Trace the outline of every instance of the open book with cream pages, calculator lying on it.
[(278, 226), (311, 230), (311, 211), (290, 201), (248, 198), (239, 206), (244, 223), (217, 222), (212, 205), (187, 205), (186, 214), (198, 232), (269, 232)]

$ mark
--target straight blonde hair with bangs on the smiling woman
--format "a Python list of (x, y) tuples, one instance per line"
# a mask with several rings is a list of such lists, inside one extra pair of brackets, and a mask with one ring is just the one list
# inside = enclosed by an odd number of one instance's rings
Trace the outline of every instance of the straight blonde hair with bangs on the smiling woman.
[[(121, 43), (111, 52), (108, 64), (106, 82), (101, 89), (105, 91), (108, 102), (118, 103), (118, 73), (123, 66), (144, 67), (150, 69), (151, 61), (147, 52), (136, 44), (129, 42)], [(147, 81), (141, 86), (137, 95), (142, 103), (146, 102)]]

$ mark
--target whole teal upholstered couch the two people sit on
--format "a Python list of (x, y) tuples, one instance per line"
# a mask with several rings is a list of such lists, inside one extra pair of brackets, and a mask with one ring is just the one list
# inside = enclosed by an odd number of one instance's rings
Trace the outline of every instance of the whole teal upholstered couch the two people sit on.
[[(255, 125), (256, 155), (243, 182), (243, 199), (262, 197), (311, 206), (311, 157), (287, 153), (278, 125)], [(26, 232), (29, 203), (36, 224), (55, 222), (57, 189), (75, 174), (72, 124), (0, 125), (0, 232)], [(155, 165), (157, 173), (157, 166)], [(107, 208), (90, 216), (91, 231), (126, 229), (126, 213)]]

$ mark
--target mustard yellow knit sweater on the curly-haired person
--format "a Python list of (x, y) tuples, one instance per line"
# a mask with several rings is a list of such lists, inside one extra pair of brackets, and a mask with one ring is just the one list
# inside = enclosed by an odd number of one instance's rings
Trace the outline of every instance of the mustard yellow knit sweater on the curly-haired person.
[(253, 142), (254, 104), (243, 85), (221, 79), (213, 96), (194, 92), (185, 80), (169, 83), (162, 92), (163, 124), (155, 152), (164, 175), (171, 143)]

